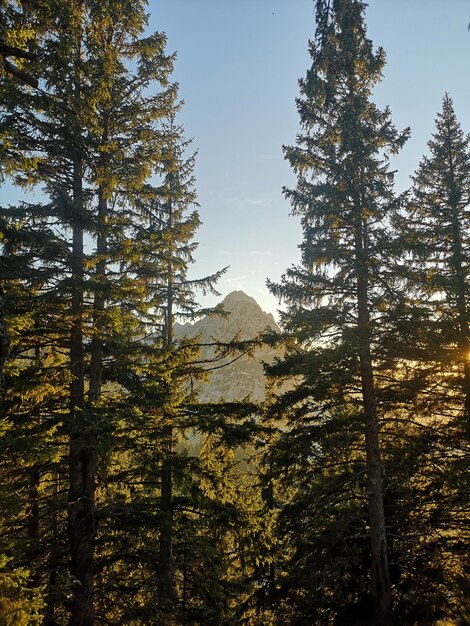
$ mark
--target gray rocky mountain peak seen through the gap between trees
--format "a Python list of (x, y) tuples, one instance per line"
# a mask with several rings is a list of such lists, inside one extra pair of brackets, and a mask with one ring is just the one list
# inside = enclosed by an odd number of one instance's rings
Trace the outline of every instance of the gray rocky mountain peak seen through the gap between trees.
[[(228, 343), (234, 337), (254, 339), (267, 328), (279, 330), (271, 313), (265, 313), (254, 298), (243, 291), (233, 291), (223, 301), (227, 317), (204, 317), (194, 324), (175, 324), (175, 335), (188, 339), (199, 338), (201, 343), (213, 340)], [(246, 398), (261, 401), (265, 397), (265, 377), (262, 362), (271, 363), (280, 352), (268, 346), (257, 348), (252, 356), (244, 355), (215, 363), (218, 369), (208, 372), (207, 382), (199, 381), (196, 391), (200, 402), (234, 402)], [(214, 356), (213, 348), (204, 348), (203, 356)], [(233, 357), (232, 357), (233, 360)], [(219, 367), (226, 363), (224, 367)], [(211, 367), (210, 364), (207, 365)]]

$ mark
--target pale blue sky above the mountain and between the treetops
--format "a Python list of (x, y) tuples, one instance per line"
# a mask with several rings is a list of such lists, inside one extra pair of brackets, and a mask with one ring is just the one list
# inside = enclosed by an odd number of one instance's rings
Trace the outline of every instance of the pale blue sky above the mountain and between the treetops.
[[(295, 143), (298, 79), (310, 66), (313, 0), (150, 0), (150, 29), (177, 52), (180, 121), (198, 149), (203, 222), (193, 277), (230, 266), (222, 297), (241, 289), (274, 313), (266, 279), (299, 260), (301, 229), (282, 187), (295, 185), (282, 154)], [(387, 53), (375, 101), (411, 139), (393, 162), (397, 190), (426, 153), (447, 91), (470, 131), (470, 0), (370, 0), (368, 36)], [(204, 298), (204, 306), (219, 299)]]

